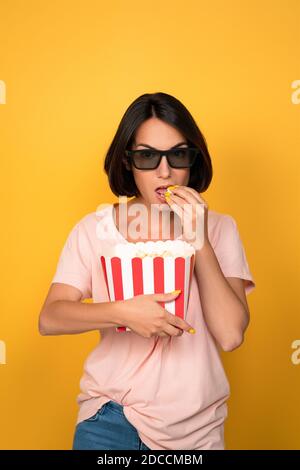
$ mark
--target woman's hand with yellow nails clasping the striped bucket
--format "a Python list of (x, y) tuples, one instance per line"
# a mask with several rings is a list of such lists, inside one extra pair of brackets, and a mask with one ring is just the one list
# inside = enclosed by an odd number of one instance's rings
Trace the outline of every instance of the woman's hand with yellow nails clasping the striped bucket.
[(193, 328), (189, 323), (159, 305), (176, 299), (180, 291), (168, 294), (143, 294), (132, 299), (118, 301), (123, 310), (124, 326), (135, 333), (152, 336), (181, 336), (183, 331)]

